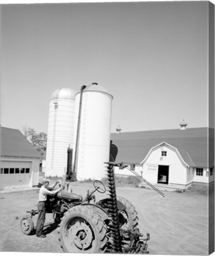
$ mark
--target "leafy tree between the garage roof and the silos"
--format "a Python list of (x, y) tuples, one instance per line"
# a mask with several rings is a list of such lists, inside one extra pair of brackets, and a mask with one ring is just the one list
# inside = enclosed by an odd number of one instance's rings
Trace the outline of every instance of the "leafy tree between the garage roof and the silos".
[(22, 127), (22, 133), (43, 156), (47, 147), (47, 134), (44, 132), (37, 133), (33, 128), (27, 127), (26, 124)]

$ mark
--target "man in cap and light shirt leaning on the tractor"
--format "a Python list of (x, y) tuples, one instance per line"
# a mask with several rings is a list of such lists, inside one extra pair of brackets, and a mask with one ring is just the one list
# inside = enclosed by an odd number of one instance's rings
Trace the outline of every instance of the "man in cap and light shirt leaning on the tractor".
[(60, 183), (60, 181), (56, 181), (56, 183), (49, 186), (50, 180), (48, 180), (47, 178), (44, 178), (42, 183), (43, 185), (40, 188), (40, 192), (39, 192), (39, 203), (37, 205), (37, 209), (39, 212), (38, 212), (38, 218), (37, 218), (36, 235), (38, 238), (46, 237), (46, 235), (43, 234), (43, 226), (45, 223), (45, 203), (47, 200), (47, 195), (57, 194), (59, 191), (63, 189), (63, 187), (61, 186), (57, 190), (51, 191), (53, 190), (54, 187), (56, 187), (58, 183)]

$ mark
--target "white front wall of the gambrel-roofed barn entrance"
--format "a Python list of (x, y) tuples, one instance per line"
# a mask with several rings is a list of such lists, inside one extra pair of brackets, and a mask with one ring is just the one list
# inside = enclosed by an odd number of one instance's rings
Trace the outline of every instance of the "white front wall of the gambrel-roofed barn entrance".
[[(167, 156), (161, 156), (161, 151), (167, 151)], [(143, 177), (152, 184), (158, 181), (158, 165), (169, 166), (169, 185), (187, 184), (187, 167), (176, 149), (168, 145), (152, 149), (143, 165)]]

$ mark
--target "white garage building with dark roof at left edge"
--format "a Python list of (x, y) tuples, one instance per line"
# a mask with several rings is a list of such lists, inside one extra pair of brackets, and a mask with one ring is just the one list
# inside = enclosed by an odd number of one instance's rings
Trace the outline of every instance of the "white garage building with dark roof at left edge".
[(0, 129), (1, 190), (38, 185), (40, 153), (19, 130)]

